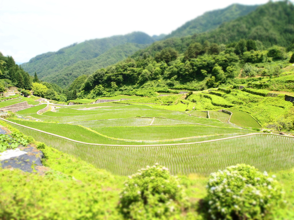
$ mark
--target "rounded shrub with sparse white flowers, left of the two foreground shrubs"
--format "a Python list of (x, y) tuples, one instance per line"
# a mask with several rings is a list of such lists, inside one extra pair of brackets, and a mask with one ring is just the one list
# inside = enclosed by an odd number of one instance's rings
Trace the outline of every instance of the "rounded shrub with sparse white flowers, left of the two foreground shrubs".
[(178, 177), (157, 163), (128, 176), (124, 184), (119, 210), (128, 219), (166, 218), (188, 206)]

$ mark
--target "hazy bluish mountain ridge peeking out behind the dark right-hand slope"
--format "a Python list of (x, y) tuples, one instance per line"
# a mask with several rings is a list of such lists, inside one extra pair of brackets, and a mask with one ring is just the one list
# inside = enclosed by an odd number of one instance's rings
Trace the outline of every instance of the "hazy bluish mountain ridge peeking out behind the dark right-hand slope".
[(171, 34), (167, 35), (164, 39), (211, 31), (223, 22), (232, 21), (240, 16), (247, 15), (251, 11), (254, 11), (257, 7), (257, 5), (249, 6), (233, 4), (225, 9), (208, 11), (203, 15), (188, 21), (175, 31), (172, 31)]

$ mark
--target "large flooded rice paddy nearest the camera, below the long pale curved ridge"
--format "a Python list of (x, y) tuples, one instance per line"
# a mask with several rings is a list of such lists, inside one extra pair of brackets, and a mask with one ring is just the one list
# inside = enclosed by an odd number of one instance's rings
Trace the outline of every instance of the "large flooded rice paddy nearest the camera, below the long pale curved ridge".
[(261, 171), (272, 172), (293, 168), (294, 163), (294, 139), (281, 135), (258, 133), (259, 135), (180, 146), (122, 147), (78, 143), (7, 122), (37, 141), (117, 175), (131, 175), (142, 166), (154, 163), (168, 167), (173, 175), (198, 173), (205, 176), (237, 163), (246, 163)]

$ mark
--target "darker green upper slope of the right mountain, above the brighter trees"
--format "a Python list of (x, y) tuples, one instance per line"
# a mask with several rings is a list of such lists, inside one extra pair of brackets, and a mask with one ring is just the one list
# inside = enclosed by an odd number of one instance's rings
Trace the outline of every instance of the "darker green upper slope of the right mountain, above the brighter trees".
[[(240, 39), (258, 40), (261, 46), (280, 45), (288, 48), (294, 38), (294, 6), (290, 2), (269, 2), (233, 21), (224, 22), (218, 28), (204, 33), (173, 37), (156, 41), (151, 46), (135, 53), (154, 56), (163, 48), (174, 48), (178, 53), (184, 53), (192, 43), (229, 44)], [(292, 42), (293, 43), (293, 42)], [(206, 44), (206, 43), (205, 43)], [(206, 44), (208, 46), (208, 44)], [(233, 45), (234, 46), (234, 45)], [(293, 46), (294, 47), (294, 46)]]

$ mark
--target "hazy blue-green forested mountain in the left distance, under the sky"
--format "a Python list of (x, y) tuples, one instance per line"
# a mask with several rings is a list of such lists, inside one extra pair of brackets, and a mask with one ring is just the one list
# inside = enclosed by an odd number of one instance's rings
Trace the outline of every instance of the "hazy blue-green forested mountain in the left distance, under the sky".
[(114, 64), (154, 41), (142, 32), (86, 40), (61, 48), (57, 52), (38, 55), (22, 64), (22, 67), (30, 75), (36, 72), (41, 80), (66, 87), (79, 75)]

